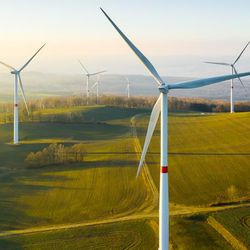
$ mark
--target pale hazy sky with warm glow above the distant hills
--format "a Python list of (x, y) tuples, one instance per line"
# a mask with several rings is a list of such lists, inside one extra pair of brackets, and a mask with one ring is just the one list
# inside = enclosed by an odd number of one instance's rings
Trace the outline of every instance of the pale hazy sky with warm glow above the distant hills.
[[(203, 76), (229, 69), (250, 40), (249, 0), (12, 0), (0, 1), (0, 60), (20, 67), (43, 44), (27, 71), (147, 74), (106, 20), (103, 7), (161, 75)], [(248, 70), (250, 47), (238, 64)], [(0, 73), (7, 72), (0, 67)]]

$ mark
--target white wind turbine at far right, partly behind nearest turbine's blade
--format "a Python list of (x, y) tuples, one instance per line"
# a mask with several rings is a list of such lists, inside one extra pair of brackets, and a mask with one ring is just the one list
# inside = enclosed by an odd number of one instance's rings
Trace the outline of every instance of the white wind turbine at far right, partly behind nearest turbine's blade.
[[(244, 49), (240, 52), (239, 56), (236, 58), (236, 60), (233, 63), (225, 63), (225, 62), (205, 62), (205, 63), (209, 63), (209, 64), (217, 64), (217, 65), (222, 65), (222, 66), (227, 66), (231, 68), (231, 72), (232, 75), (233, 74), (238, 74), (237, 70), (235, 68), (235, 64), (239, 61), (240, 57), (242, 56), (242, 54), (244, 53), (244, 51), (246, 50), (247, 46), (249, 45), (250, 42), (247, 43), (247, 45), (244, 47)], [(241, 81), (240, 77), (238, 77), (240, 83), (242, 84), (242, 86), (245, 88), (243, 82)], [(233, 113), (234, 112), (234, 95), (233, 95), (233, 90), (234, 90), (234, 82), (233, 79), (231, 79), (231, 97), (230, 97), (230, 112)]]

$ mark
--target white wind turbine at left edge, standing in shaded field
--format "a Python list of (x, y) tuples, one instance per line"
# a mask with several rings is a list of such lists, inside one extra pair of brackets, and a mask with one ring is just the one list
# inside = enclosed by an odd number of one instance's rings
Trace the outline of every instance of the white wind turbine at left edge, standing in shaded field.
[(26, 107), (26, 110), (29, 114), (29, 109), (28, 105), (26, 102), (26, 97), (23, 89), (23, 84), (22, 84), (22, 79), (21, 79), (21, 72), (28, 66), (28, 64), (33, 60), (33, 58), (38, 54), (38, 52), (45, 46), (45, 44), (19, 69), (15, 69), (14, 67), (8, 65), (7, 63), (1, 62), (0, 64), (4, 65), (8, 69), (10, 69), (10, 73), (15, 75), (15, 80), (14, 80), (14, 144), (18, 144), (19, 141), (19, 136), (18, 136), (18, 83), (20, 85), (22, 97), (24, 100), (24, 104)]

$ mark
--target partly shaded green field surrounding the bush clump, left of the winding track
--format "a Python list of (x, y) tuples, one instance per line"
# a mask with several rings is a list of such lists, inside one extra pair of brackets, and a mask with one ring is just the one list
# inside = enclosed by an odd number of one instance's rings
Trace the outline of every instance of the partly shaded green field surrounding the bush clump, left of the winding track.
[[(11, 125), (1, 128), (5, 135), (11, 135)], [(143, 209), (148, 194), (143, 180), (135, 181), (137, 158), (129, 133), (128, 126), (105, 123), (22, 124), (20, 146), (2, 143), (6, 154), (0, 175), (0, 197), (4, 201), (1, 230), (117, 217)], [(47, 143), (77, 141), (84, 142), (83, 152), (91, 153), (81, 164), (37, 169), (25, 165), (28, 152)], [(10, 148), (12, 152), (7, 154)], [(8, 166), (10, 162), (14, 162), (14, 169)]]

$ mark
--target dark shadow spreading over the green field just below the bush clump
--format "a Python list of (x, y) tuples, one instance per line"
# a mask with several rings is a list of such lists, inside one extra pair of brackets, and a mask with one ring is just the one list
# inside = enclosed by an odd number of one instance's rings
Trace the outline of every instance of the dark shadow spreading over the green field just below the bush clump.
[[(30, 225), (42, 225), (50, 222), (49, 218), (29, 215), (29, 203), (26, 205), (24, 202), (27, 197), (41, 195), (43, 192), (57, 189), (91, 191), (89, 188), (67, 186), (67, 181), (78, 177), (77, 175), (63, 176), (60, 172), (110, 167), (134, 167), (136, 170), (137, 163), (133, 160), (97, 160), (10, 172), (8, 175), (0, 177), (0, 231), (27, 228)], [(65, 185), (62, 183), (65, 183)], [(15, 249), (14, 246), (13, 249)]]

